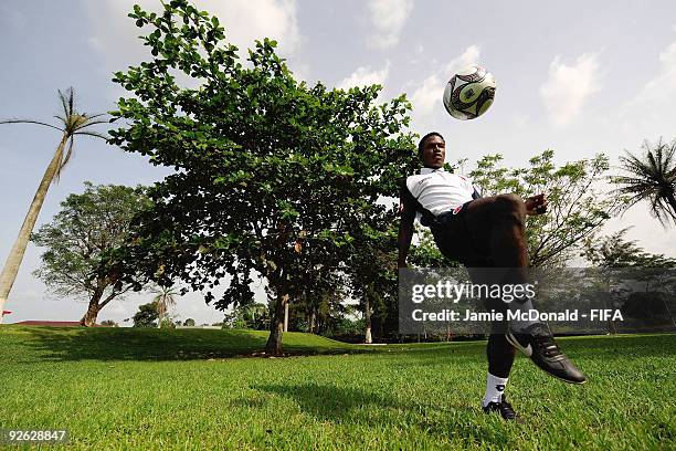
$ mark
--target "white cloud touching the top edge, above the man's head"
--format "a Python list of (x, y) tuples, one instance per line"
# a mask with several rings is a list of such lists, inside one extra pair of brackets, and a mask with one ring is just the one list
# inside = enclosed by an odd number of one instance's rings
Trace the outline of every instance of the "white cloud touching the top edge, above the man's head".
[(368, 8), (373, 27), (369, 44), (377, 49), (397, 45), (401, 31), (413, 11), (413, 0), (370, 0)]

